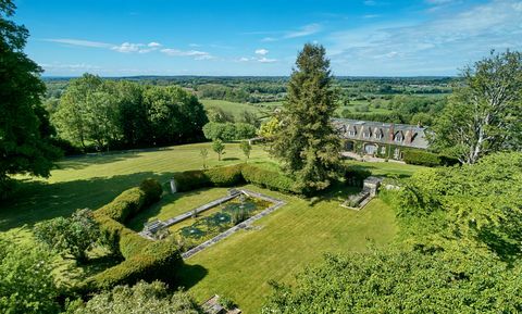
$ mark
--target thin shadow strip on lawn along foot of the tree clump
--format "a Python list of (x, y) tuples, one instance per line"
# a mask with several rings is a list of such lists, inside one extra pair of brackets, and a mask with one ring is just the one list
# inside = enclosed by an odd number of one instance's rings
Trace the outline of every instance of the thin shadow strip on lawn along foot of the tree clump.
[(59, 169), (82, 169), (94, 164), (108, 164), (119, 161), (125, 161), (132, 158), (139, 158), (140, 153), (153, 151), (169, 151), (172, 147), (148, 148), (136, 150), (121, 150), (98, 153), (87, 153), (80, 155), (71, 155), (63, 158), (57, 163)]

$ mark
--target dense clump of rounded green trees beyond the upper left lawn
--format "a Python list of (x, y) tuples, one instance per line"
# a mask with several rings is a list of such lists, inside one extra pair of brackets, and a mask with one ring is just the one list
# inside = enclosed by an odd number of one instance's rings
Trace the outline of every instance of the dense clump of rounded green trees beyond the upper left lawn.
[(202, 139), (198, 99), (176, 86), (141, 86), (84, 74), (71, 81), (52, 116), (60, 135), (84, 149), (134, 148)]

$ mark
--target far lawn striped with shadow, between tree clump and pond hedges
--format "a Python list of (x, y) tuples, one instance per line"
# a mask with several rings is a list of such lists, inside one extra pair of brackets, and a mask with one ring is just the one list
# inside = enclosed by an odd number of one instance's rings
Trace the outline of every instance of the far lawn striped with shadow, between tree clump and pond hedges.
[[(70, 215), (76, 209), (98, 209), (122, 191), (148, 177), (166, 181), (175, 172), (202, 167), (201, 148), (209, 150), (209, 166), (244, 162), (237, 143), (225, 143), (224, 159), (219, 162), (211, 143), (176, 146), (148, 151), (70, 158), (58, 163), (47, 180), (27, 180), (11, 201), (1, 204), (0, 231), (29, 227), (36, 222)], [(254, 146), (252, 163), (268, 161), (268, 154)]]

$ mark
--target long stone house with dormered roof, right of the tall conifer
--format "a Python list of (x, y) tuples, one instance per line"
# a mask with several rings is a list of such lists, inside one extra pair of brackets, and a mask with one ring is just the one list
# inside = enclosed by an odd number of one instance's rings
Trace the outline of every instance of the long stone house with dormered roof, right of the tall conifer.
[(334, 118), (343, 151), (401, 160), (405, 149), (426, 149), (425, 127), (372, 121)]

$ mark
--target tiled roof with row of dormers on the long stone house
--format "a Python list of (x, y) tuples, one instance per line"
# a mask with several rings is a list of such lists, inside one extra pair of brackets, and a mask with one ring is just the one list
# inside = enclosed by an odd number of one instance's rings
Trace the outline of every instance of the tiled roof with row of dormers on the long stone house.
[(334, 118), (333, 123), (345, 139), (426, 149), (425, 127), (349, 118)]

